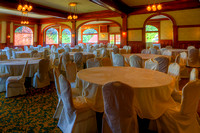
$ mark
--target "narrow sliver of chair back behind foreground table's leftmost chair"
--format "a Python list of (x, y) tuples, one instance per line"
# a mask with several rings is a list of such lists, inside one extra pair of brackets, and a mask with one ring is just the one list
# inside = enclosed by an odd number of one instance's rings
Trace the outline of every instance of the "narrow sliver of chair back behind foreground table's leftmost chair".
[(53, 69), (53, 75), (54, 75), (56, 92), (57, 92), (58, 97), (60, 98), (60, 85), (59, 85), (60, 71), (58, 70), (58, 68)]

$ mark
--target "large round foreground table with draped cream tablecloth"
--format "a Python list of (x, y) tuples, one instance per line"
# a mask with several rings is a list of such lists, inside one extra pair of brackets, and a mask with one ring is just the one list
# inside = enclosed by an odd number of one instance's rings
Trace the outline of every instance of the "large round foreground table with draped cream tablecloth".
[(134, 89), (134, 106), (141, 118), (157, 119), (175, 102), (171, 97), (172, 78), (158, 71), (134, 67), (94, 67), (77, 73), (82, 80), (82, 95), (87, 104), (103, 112), (102, 86), (107, 82), (121, 81)]

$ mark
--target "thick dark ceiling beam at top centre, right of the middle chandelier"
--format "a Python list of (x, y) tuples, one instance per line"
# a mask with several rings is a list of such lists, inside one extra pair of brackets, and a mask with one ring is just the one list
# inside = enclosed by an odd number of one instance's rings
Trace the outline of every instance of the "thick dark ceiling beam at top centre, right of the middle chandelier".
[(129, 14), (132, 12), (132, 8), (123, 3), (121, 0), (90, 0), (90, 1), (120, 14)]

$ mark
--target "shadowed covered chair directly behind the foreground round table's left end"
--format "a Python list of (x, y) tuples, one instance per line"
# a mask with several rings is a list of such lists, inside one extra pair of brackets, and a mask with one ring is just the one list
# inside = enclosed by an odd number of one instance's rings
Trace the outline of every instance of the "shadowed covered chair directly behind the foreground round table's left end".
[(77, 71), (83, 69), (83, 54), (82, 53), (75, 53), (74, 54), (74, 62), (76, 63)]

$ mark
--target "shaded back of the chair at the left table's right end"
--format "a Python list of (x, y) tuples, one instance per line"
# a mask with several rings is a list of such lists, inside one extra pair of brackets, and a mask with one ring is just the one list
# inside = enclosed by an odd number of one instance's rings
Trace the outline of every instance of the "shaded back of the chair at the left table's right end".
[(39, 69), (38, 69), (38, 78), (40, 81), (44, 81), (49, 78), (49, 60), (48, 59), (41, 59), (39, 62)]

